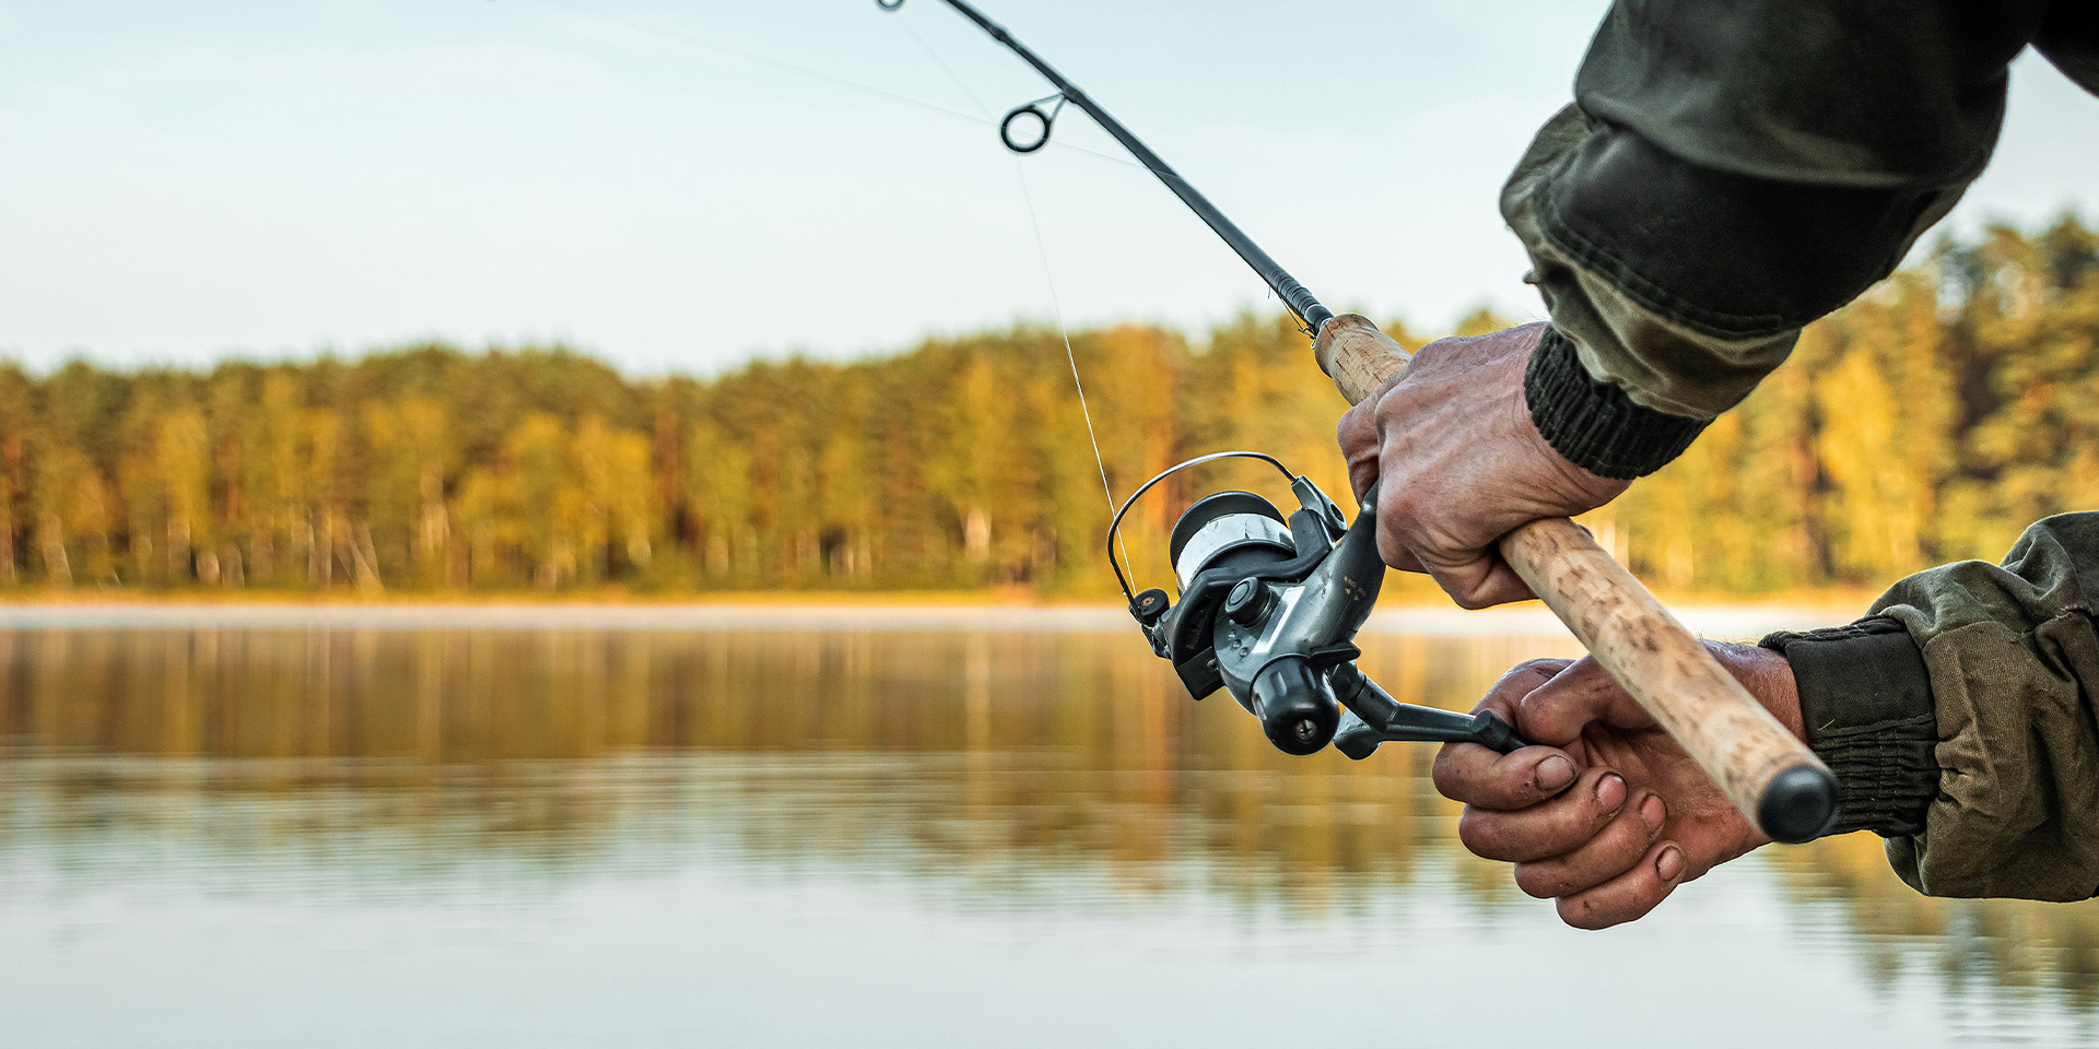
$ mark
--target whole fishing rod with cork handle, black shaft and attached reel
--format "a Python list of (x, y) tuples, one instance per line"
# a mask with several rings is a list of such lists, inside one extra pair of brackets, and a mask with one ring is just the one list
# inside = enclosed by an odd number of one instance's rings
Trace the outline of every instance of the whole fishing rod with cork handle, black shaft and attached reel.
[[(1077, 105), (1276, 290), (1312, 336), (1320, 369), (1350, 403), (1385, 390), (1406, 371), (1411, 355), (1398, 342), (1364, 317), (1335, 317), (1320, 306), (1186, 178), (1014, 34), (966, 0), (945, 2), (1058, 88), (1005, 113), (999, 138), (1008, 149), (1033, 153), (1045, 147), (1058, 113), (1066, 103)], [(875, 4), (896, 10), (905, 0)], [(1054, 105), (1043, 109), (1047, 103)], [(1026, 141), (1016, 138), (1022, 120), (1035, 120), (1041, 130)], [(1285, 516), (1247, 491), (1196, 499), (1173, 524), (1167, 548), (1180, 600), (1165, 590), (1133, 594), (1115, 558), (1123, 516), (1169, 476), (1232, 457), (1280, 470), (1299, 510)], [(1203, 699), (1224, 688), (1285, 753), (1318, 753), (1331, 743), (1362, 759), (1379, 743), (1394, 741), (1465, 741), (1503, 753), (1522, 747), (1524, 738), (1492, 713), (1398, 703), (1356, 667), (1362, 650), (1354, 636), (1385, 577), (1377, 554), (1377, 489), (1371, 485), (1358, 501), (1356, 520), (1345, 522), (1318, 485), (1270, 455), (1199, 455), (1169, 466), (1123, 501), (1108, 522), (1108, 564), (1152, 652), (1173, 663), (1188, 692)], [(1778, 724), (1587, 529), (1568, 518), (1532, 520), (1501, 537), (1497, 550), (1765, 835), (1807, 841), (1835, 822), (1837, 780), (1828, 766)]]

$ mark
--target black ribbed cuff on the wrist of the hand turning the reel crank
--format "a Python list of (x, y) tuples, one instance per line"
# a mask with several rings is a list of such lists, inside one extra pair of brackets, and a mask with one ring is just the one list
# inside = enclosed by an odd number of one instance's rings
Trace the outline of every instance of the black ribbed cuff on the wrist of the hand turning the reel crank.
[(1807, 747), (1837, 774), (1841, 812), (1830, 833), (1925, 831), (1939, 795), (1931, 676), (1910, 631), (1889, 617), (1759, 642), (1786, 657), (1801, 692)]

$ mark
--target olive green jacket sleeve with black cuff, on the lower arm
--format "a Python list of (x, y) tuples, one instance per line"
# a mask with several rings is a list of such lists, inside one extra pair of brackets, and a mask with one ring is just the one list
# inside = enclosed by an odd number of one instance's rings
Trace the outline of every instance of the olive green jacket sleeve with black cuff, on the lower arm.
[(1895, 583), (1849, 627), (1778, 634), (1841, 831), (1887, 837), (1931, 896), (2099, 894), (2099, 514), (2047, 518), (2005, 564)]

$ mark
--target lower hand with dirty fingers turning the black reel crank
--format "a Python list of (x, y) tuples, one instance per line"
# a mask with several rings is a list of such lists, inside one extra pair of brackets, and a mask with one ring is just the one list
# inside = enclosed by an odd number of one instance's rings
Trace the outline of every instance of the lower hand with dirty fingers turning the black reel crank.
[[(1782, 655), (1706, 648), (1801, 734), (1801, 699)], [(1436, 755), (1436, 789), (1465, 804), (1465, 848), (1515, 862), (1515, 885), (1555, 898), (1568, 925), (1633, 921), (1679, 883), (1769, 841), (1593, 659), (1524, 663), (1476, 709), (1536, 745), (1503, 755), (1450, 743)]]

